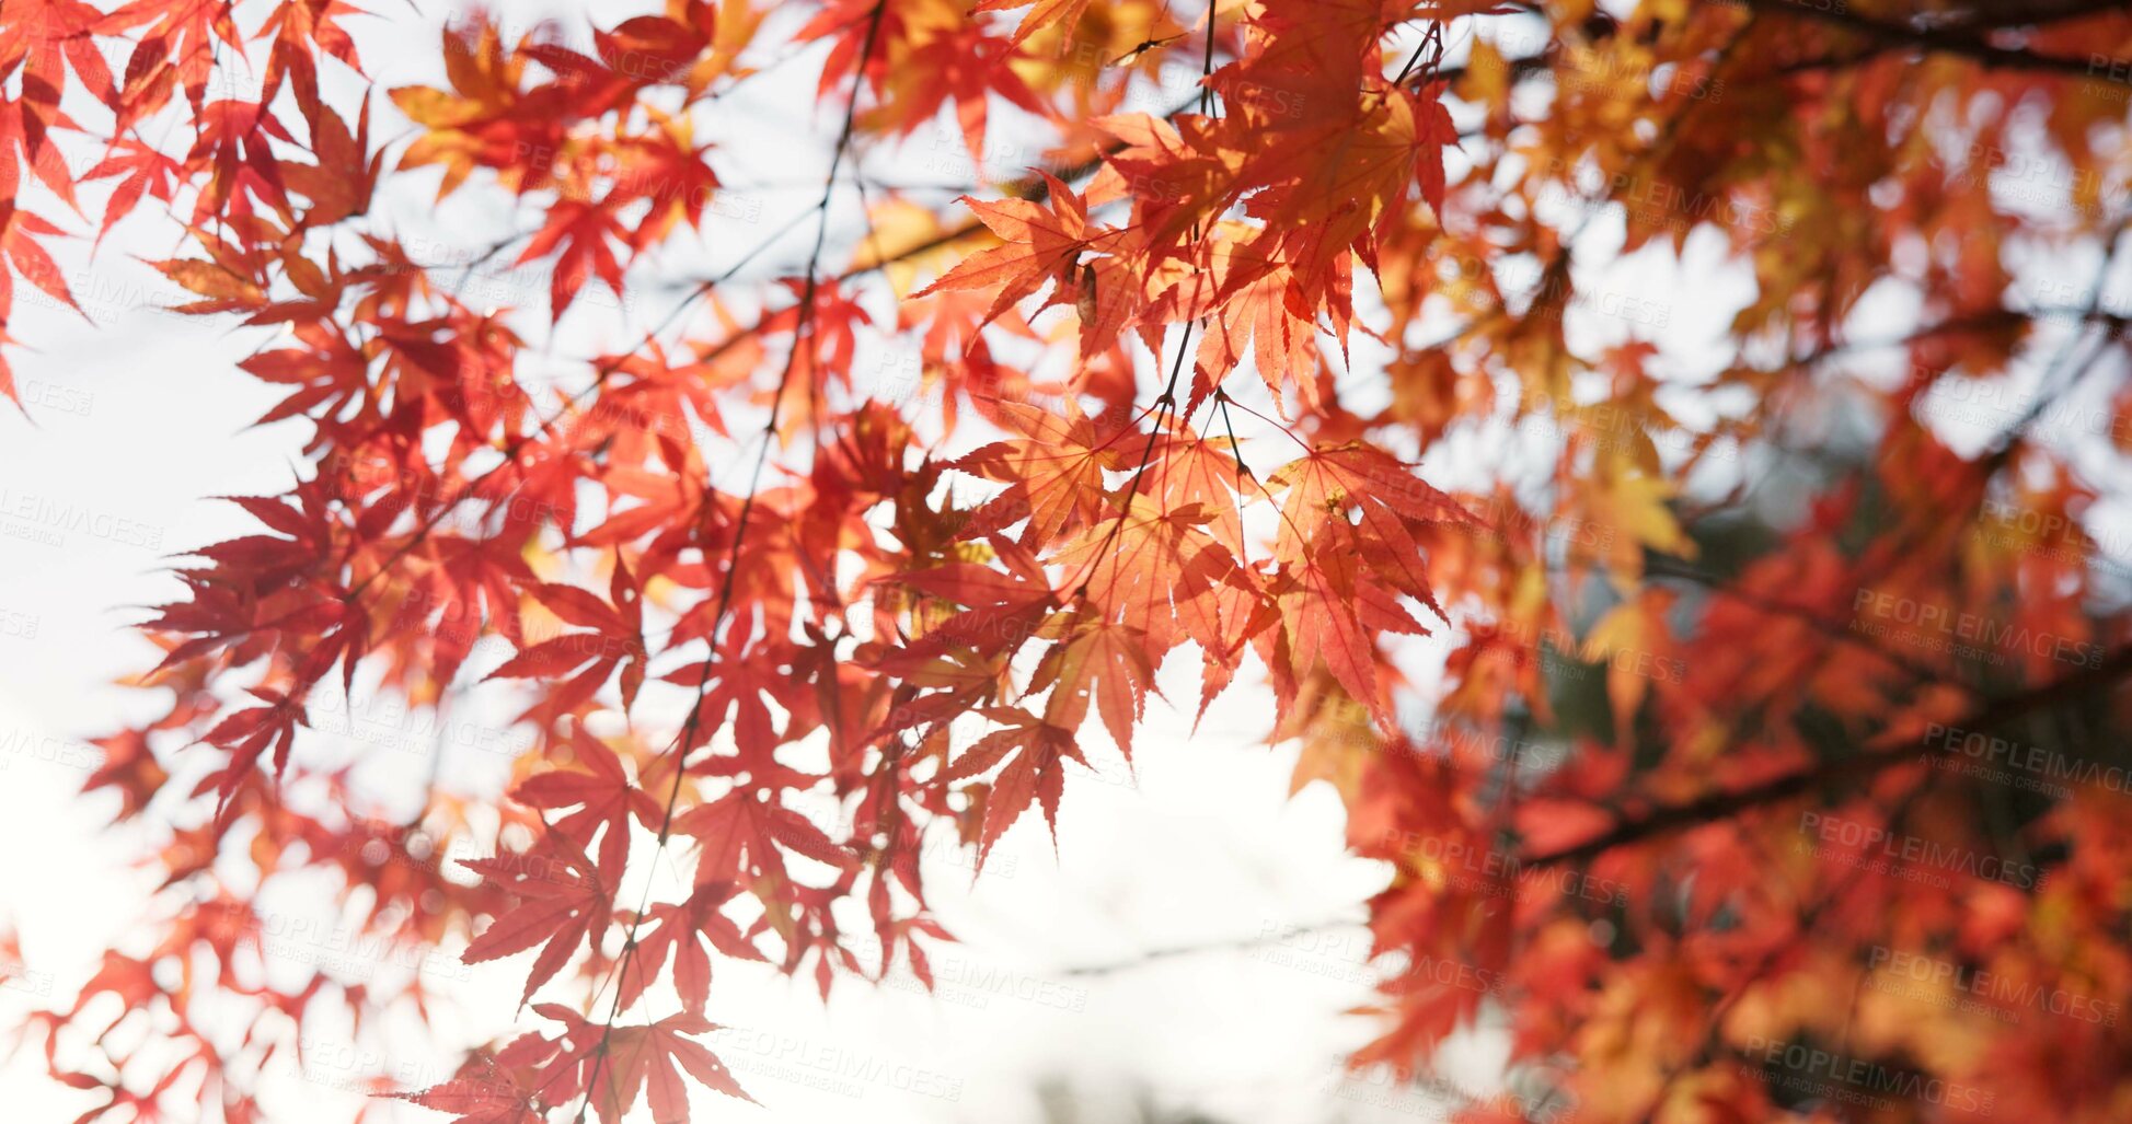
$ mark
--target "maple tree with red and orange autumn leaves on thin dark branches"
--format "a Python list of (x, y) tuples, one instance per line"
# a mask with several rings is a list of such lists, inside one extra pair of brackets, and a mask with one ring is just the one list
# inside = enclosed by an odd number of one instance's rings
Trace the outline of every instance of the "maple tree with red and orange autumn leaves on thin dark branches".
[[(983, 866), (1151, 704), (1228, 693), (1388, 868), (1356, 1062), (1486, 1015), (1546, 1090), (1475, 1120), (1842, 1115), (1793, 1049), (1942, 1090), (1900, 1118), (2126, 1118), (2121, 4), (667, 0), (458, 13), (397, 87), (373, 9), (0, 9), (0, 324), (77, 307), (55, 245), (168, 220), (173, 305), (256, 333), (258, 420), (307, 435), (141, 625), (162, 714), (96, 742), (164, 845), (139, 938), (36, 1017), (81, 1120), (260, 1120), (309, 1019), (437, 1000), (247, 956), (318, 879), (362, 936), (533, 953), (522, 1034), (379, 1092), (748, 1098), (695, 1041), (721, 962), (930, 981), (927, 832)], [(791, 160), (706, 141), (725, 98), (806, 66), (814, 203), (680, 269)], [(921, 130), (959, 196), (876, 175)], [(994, 177), (1008, 137), (1040, 154)], [(531, 228), (437, 262), (394, 183)], [(473, 301), (490, 260), (542, 284)], [(1674, 322), (1706, 275), (1742, 296)], [(358, 680), (505, 693), (531, 740), (394, 815), (305, 753)], [(1983, 1002), (1889, 998), (1915, 958)], [(2008, 994), (2070, 998), (1974, 1009)]]

